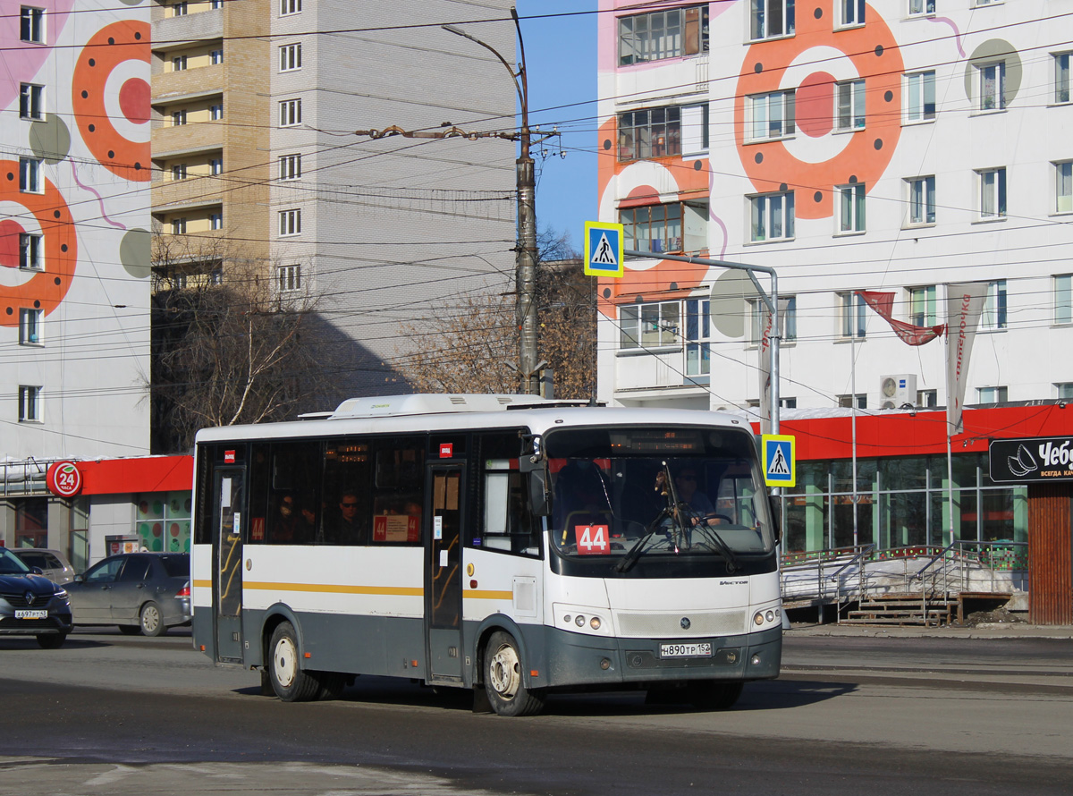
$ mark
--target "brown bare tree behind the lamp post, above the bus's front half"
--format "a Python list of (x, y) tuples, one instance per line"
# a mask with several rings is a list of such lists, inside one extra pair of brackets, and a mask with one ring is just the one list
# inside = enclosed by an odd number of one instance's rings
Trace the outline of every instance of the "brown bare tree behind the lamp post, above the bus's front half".
[[(538, 236), (539, 358), (555, 371), (555, 394), (589, 399), (596, 385), (596, 280), (586, 277), (570, 236)], [(417, 392), (516, 393), (517, 297), (493, 290), (444, 301), (405, 330), (411, 348), (399, 370)], [(429, 342), (435, 341), (435, 345)]]

